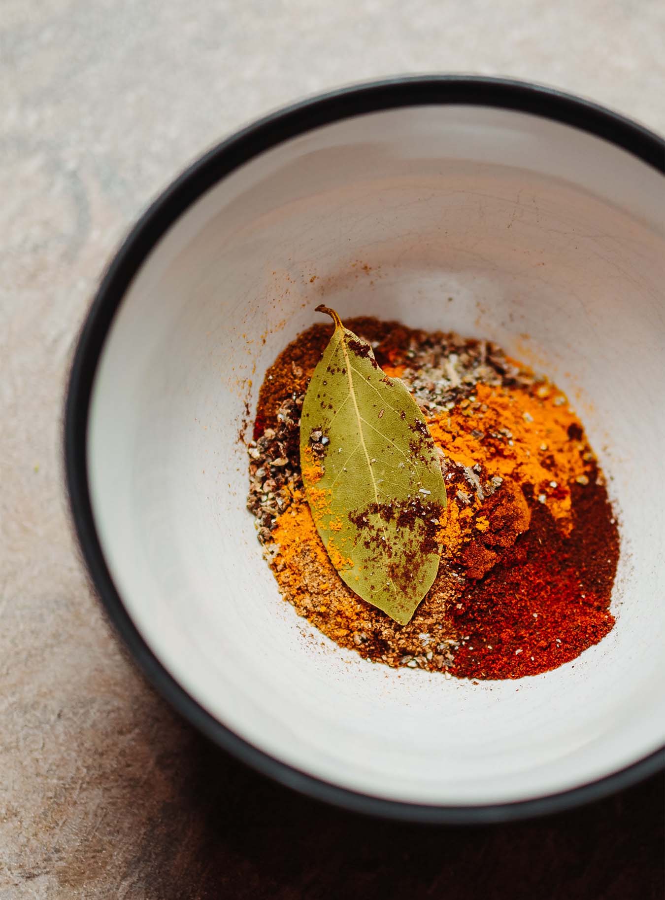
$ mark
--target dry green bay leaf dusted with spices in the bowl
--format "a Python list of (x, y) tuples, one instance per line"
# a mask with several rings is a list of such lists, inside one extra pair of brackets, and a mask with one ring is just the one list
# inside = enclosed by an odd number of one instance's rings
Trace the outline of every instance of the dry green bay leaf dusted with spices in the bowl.
[(439, 454), (404, 383), (382, 371), (335, 311), (316, 311), (335, 329), (300, 419), (306, 498), (341, 579), (406, 625), (439, 568)]

